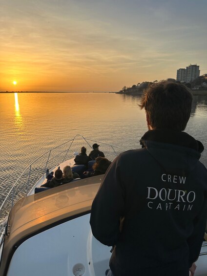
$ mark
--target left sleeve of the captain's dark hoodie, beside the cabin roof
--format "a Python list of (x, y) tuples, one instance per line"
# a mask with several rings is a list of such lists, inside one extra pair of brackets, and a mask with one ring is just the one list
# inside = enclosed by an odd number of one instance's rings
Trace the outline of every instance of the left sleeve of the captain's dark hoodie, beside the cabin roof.
[(124, 189), (117, 157), (106, 171), (92, 204), (90, 225), (95, 238), (105, 245), (115, 245), (120, 235), (120, 218), (123, 212)]

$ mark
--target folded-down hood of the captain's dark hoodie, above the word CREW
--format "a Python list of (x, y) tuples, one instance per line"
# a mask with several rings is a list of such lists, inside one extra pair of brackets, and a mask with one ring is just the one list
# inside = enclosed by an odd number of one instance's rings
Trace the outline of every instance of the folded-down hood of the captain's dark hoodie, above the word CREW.
[(149, 130), (140, 140), (140, 144), (169, 174), (171, 170), (180, 175), (190, 173), (204, 150), (203, 144), (186, 132), (171, 129)]

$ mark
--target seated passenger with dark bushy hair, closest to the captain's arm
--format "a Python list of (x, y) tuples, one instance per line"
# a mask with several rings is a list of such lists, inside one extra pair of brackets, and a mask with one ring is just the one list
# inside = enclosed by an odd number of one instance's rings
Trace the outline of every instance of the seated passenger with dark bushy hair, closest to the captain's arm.
[(93, 172), (90, 171), (85, 171), (84, 175), (85, 177), (90, 177), (90, 176), (95, 176), (95, 175), (100, 175), (104, 174), (108, 167), (110, 166), (111, 161), (109, 161), (105, 157), (97, 157), (96, 162), (93, 164)]

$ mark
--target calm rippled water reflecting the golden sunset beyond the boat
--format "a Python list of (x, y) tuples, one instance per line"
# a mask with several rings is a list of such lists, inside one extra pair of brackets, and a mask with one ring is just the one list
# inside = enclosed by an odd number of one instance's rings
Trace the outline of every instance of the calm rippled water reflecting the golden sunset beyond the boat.
[[(0, 201), (33, 160), (76, 134), (123, 149), (140, 148), (147, 127), (139, 100), (114, 93), (0, 94)], [(205, 148), (206, 126), (207, 96), (194, 96), (186, 132)], [(201, 161), (207, 166), (207, 150)]]

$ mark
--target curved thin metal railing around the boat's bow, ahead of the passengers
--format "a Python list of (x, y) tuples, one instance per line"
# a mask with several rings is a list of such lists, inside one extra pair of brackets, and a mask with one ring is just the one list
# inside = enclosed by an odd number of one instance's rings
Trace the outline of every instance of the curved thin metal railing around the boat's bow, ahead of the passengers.
[(0, 226), (2, 227), (5, 223), (5, 219), (13, 205), (23, 196), (27, 196), (28, 192), (36, 182), (41, 177), (45, 176), (47, 168), (53, 169), (65, 160), (71, 159), (74, 156), (74, 151), (80, 150), (82, 146), (90, 147), (92, 149), (92, 144), (94, 143), (99, 143), (105, 156), (111, 160), (116, 157), (118, 153), (123, 151), (120, 147), (87, 139), (80, 134), (75, 135), (73, 139), (63, 144), (46, 151), (27, 166), (5, 196), (0, 206)]

